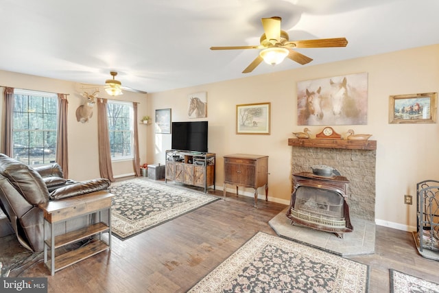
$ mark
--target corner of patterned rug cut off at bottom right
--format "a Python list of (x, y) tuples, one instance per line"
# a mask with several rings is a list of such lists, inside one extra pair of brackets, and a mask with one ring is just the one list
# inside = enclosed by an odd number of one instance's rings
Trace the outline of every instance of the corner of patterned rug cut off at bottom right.
[(437, 293), (439, 292), (439, 284), (390, 269), (390, 292)]

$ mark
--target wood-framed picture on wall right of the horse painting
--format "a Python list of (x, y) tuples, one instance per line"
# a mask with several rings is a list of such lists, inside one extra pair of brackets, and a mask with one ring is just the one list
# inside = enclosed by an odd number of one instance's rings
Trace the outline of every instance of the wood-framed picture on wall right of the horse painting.
[(436, 123), (438, 93), (391, 95), (389, 123)]

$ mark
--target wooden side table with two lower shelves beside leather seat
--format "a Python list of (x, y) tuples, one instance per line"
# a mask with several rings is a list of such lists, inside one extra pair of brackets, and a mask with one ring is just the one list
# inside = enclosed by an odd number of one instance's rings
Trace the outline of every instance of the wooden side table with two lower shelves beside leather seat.
[[(38, 207), (44, 213), (44, 262), (53, 276), (57, 270), (77, 263), (82, 259), (91, 257), (106, 249), (111, 249), (111, 198), (112, 194), (107, 191), (97, 191), (92, 194), (75, 196), (63, 200), (53, 200)], [(108, 211), (108, 224), (101, 222), (102, 211)], [(82, 217), (98, 213), (99, 222), (91, 224), (75, 231), (70, 231), (62, 235), (55, 235), (55, 225), (66, 222), (73, 218)], [(50, 237), (46, 235), (46, 224), (50, 226)], [(108, 232), (108, 241), (104, 242), (102, 233)], [(86, 237), (99, 235), (99, 239), (90, 242), (76, 250), (71, 250), (55, 257), (55, 249), (73, 242), (78, 242)], [(50, 262), (47, 260), (47, 250), (50, 248)]]

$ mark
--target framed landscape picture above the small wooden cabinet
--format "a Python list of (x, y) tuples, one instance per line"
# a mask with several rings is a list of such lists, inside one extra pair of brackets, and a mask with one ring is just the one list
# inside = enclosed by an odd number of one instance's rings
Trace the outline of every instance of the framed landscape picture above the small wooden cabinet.
[(236, 106), (236, 134), (270, 134), (270, 103)]

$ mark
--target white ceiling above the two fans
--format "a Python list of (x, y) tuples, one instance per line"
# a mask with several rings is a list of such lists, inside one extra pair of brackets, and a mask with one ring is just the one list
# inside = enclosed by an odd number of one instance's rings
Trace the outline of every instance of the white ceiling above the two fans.
[(438, 44), (438, 13), (438, 0), (0, 0), (0, 69), (87, 84), (114, 70), (153, 93), (304, 66), (244, 74), (257, 49), (209, 49), (259, 45), (263, 17), (281, 16), (289, 40), (347, 38), (297, 49), (312, 66)]

